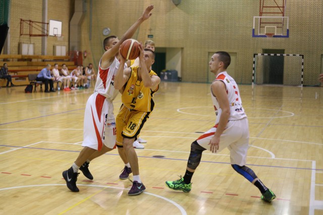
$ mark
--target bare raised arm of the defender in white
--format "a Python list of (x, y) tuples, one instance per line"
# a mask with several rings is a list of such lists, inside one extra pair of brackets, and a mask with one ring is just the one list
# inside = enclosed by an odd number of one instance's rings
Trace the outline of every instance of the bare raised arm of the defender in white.
[[(105, 51), (104, 54), (102, 55), (102, 61), (101, 61), (101, 66), (103, 68), (109, 67), (110, 66), (110, 61), (112, 61), (113, 57), (116, 56), (116, 54), (119, 51), (120, 45), (127, 39), (130, 39), (138, 27), (141, 25), (141, 23), (145, 20), (147, 20), (151, 16), (151, 10), (153, 9), (153, 5), (148, 6), (143, 14), (140, 16), (140, 18), (122, 35), (120, 40), (109, 50)], [(112, 59), (112, 60), (111, 60)]]

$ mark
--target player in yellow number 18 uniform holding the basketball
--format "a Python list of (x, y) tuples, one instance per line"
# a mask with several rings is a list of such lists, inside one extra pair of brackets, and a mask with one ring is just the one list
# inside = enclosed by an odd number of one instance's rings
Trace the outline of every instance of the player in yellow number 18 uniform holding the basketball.
[[(133, 142), (154, 108), (153, 94), (158, 90), (160, 78), (150, 69), (155, 54), (140, 44), (139, 66), (123, 69), (119, 67), (115, 77), (115, 88), (123, 90), (122, 106), (116, 117), (117, 147), (120, 157), (130, 164), (133, 186), (129, 195), (138, 195), (145, 190), (139, 177), (138, 157)], [(120, 56), (120, 63), (126, 60)], [(126, 161), (124, 160), (126, 159)], [(129, 175), (129, 174), (128, 174)]]

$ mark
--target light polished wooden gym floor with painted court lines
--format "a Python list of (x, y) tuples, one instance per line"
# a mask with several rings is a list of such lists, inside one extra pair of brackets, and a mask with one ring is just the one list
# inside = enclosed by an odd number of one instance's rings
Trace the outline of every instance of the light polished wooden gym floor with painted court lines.
[[(114, 150), (78, 177), (79, 193), (62, 172), (82, 149), (83, 115), (92, 89), (24, 93), (0, 89), (1, 214), (323, 214), (323, 88), (240, 85), (249, 119), (247, 165), (277, 195), (260, 200), (256, 187), (235, 172), (228, 150), (204, 152), (190, 193), (166, 180), (184, 175), (190, 144), (214, 124), (209, 84), (165, 83), (136, 150), (146, 191), (128, 196), (124, 165)], [(114, 101), (115, 114), (121, 105)], [(132, 178), (132, 175), (131, 175)]]

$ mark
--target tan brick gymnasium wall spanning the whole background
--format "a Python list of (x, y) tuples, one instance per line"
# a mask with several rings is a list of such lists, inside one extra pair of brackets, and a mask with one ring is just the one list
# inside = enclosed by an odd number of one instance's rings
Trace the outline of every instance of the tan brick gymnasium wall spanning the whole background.
[[(266, 0), (270, 1), (270, 0)], [(63, 21), (64, 41), (48, 37), (47, 54), (53, 44), (68, 46), (68, 26), (73, 14), (74, 1), (48, 0), (48, 20)], [(184, 82), (207, 82), (208, 52), (225, 50), (237, 53), (235, 79), (238, 83), (250, 84), (252, 79), (253, 53), (262, 49), (285, 49), (285, 53), (304, 54), (304, 84), (318, 85), (323, 54), (323, 1), (287, 0), (289, 38), (253, 38), (253, 16), (259, 16), (258, 0), (184, 0), (175, 6), (171, 0), (86, 0), (86, 13), (81, 25), (81, 47), (87, 58), (83, 64), (92, 62), (95, 67), (103, 53), (102, 29), (109, 27), (110, 35), (122, 34), (150, 4), (155, 6), (152, 17), (144, 22), (134, 38), (145, 41), (148, 34), (156, 47), (182, 48), (181, 77)], [(17, 53), (18, 42), (30, 40), (36, 44), (36, 53), (41, 53), (41, 38), (19, 36), (20, 18), (41, 21), (41, 0), (11, 1), (11, 53)], [(71, 12), (70, 12), (71, 11)], [(92, 21), (90, 22), (90, 18)], [(90, 25), (92, 28), (90, 38)]]

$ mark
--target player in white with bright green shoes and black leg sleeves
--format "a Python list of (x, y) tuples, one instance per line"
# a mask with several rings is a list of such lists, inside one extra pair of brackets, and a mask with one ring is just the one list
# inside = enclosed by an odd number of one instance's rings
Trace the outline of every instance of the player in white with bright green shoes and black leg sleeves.
[(209, 67), (211, 73), (216, 75), (216, 80), (211, 84), (216, 124), (192, 142), (184, 177), (176, 181), (166, 181), (166, 185), (174, 190), (189, 192), (202, 152), (208, 149), (212, 153), (218, 153), (228, 148), (232, 168), (259, 189), (262, 200), (271, 202), (276, 198), (274, 192), (264, 186), (256, 174), (245, 166), (249, 146), (248, 119), (242, 107), (238, 86), (226, 71), (230, 62), (231, 57), (227, 52), (213, 54)]

